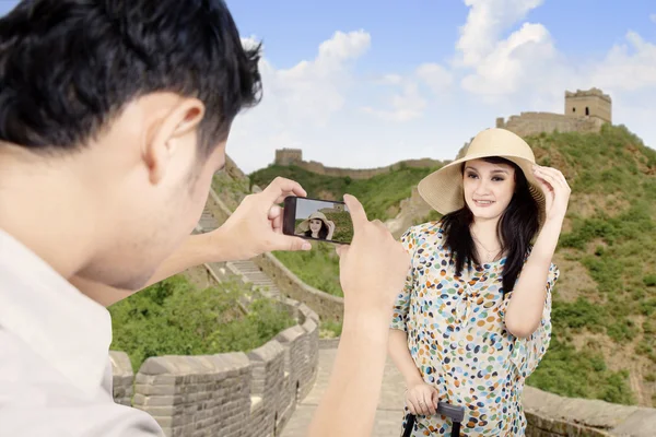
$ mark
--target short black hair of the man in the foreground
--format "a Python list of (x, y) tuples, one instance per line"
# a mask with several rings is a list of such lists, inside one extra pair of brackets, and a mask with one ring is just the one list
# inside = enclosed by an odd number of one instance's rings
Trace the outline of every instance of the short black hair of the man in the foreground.
[(79, 149), (130, 101), (199, 98), (200, 156), (260, 99), (260, 45), (223, 0), (23, 0), (0, 19), (0, 141)]

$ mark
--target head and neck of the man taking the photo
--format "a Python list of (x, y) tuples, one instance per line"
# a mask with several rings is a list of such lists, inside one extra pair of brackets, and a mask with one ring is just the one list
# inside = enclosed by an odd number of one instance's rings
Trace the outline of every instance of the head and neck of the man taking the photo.
[(0, 20), (0, 227), (17, 192), (58, 196), (74, 274), (142, 286), (194, 229), (258, 60), (222, 0), (22, 1)]

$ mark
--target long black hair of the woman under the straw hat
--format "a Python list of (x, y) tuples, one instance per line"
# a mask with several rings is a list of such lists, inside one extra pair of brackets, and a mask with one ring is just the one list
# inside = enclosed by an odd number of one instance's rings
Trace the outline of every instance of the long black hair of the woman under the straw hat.
[[(482, 160), (491, 164), (512, 165), (515, 168), (515, 193), (496, 227), (501, 252), (507, 251), (502, 273), (502, 288), (505, 295), (513, 291), (515, 281), (524, 267), (525, 257), (530, 250), (530, 243), (539, 229), (539, 208), (530, 194), (528, 181), (519, 166), (512, 161), (497, 156)], [(464, 169), (465, 164), (461, 166), (462, 173)], [(462, 274), (465, 263), (469, 268), (472, 263), (480, 264), (473, 238), (469, 231), (469, 226), (473, 222), (473, 214), (467, 206), (467, 202), (460, 210), (444, 215), (441, 222), (446, 237), (446, 246), (452, 251), (456, 262), (457, 274)]]

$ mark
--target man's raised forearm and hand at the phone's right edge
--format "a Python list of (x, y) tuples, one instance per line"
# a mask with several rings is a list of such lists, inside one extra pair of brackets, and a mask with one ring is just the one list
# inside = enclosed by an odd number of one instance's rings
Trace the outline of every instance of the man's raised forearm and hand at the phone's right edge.
[(344, 196), (353, 240), (338, 247), (344, 319), (328, 389), (315, 411), (309, 437), (371, 436), (387, 358), (395, 297), (402, 290), (410, 256), (362, 204)]

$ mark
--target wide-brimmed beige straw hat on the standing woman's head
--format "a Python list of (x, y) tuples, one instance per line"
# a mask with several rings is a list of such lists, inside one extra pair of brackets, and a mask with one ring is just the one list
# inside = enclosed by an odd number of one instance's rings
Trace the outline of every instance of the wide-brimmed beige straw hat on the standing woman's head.
[(461, 164), (466, 161), (499, 156), (517, 164), (528, 181), (530, 194), (538, 203), (540, 227), (544, 223), (544, 193), (535, 177), (532, 165), (536, 157), (522, 138), (505, 129), (487, 129), (469, 144), (465, 155), (423, 178), (418, 186), (419, 194), (438, 213), (445, 215), (465, 206)]

